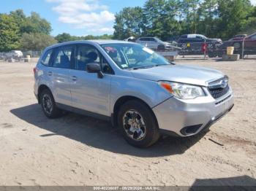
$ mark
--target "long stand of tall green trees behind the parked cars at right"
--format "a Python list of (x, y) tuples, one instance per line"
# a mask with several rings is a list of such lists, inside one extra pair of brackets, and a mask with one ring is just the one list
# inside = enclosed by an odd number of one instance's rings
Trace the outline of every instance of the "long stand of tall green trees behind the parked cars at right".
[(228, 39), (255, 32), (255, 20), (256, 7), (249, 0), (147, 0), (140, 12), (127, 7), (116, 14), (114, 37), (158, 36), (167, 40), (196, 33)]

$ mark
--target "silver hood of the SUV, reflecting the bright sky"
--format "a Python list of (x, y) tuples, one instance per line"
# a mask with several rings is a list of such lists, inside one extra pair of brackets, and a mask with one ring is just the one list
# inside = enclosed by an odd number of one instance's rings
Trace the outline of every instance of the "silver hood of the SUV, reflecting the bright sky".
[(131, 72), (138, 79), (152, 81), (163, 80), (202, 86), (208, 86), (208, 82), (225, 76), (221, 71), (215, 69), (187, 65), (165, 65), (149, 69), (133, 70)]

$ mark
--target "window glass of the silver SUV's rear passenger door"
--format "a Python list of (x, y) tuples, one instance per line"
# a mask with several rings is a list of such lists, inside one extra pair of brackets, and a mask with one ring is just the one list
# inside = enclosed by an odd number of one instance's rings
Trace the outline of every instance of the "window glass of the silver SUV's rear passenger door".
[(70, 69), (73, 61), (75, 48), (72, 46), (59, 47), (56, 50), (55, 58), (53, 60), (53, 67), (61, 69)]

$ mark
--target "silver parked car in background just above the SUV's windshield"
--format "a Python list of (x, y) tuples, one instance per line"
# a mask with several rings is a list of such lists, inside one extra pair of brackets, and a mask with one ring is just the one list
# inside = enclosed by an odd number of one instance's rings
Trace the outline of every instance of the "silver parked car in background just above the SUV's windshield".
[(142, 44), (144, 47), (148, 47), (151, 50), (173, 50), (172, 44), (163, 42), (157, 37), (140, 37), (135, 42)]

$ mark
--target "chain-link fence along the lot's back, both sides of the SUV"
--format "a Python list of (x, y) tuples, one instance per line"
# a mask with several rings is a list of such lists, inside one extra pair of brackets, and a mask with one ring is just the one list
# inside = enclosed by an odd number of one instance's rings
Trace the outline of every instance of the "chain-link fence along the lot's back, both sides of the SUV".
[[(244, 39), (232, 39), (223, 42), (179, 42), (171, 46), (170, 50), (160, 50), (164, 56), (186, 56), (193, 59), (201, 58), (222, 58), (227, 53), (227, 47), (234, 47), (234, 54), (239, 54), (240, 58), (256, 59), (256, 36)], [(12, 52), (0, 52), (0, 60), (8, 59), (20, 60), (29, 55), (31, 58), (39, 58), (42, 51), (24, 51), (22, 57), (13, 55)], [(199, 56), (199, 57), (198, 57)]]

